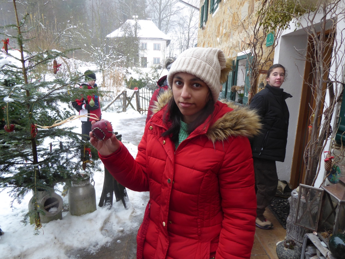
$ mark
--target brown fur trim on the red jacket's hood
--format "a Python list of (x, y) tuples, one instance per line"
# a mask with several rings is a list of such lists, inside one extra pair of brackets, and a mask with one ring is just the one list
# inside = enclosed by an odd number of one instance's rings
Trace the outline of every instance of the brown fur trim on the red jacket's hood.
[[(157, 113), (160, 111), (169, 102), (171, 97), (172, 91), (170, 89), (160, 94), (152, 112)], [(227, 102), (224, 99), (221, 102), (227, 104), (233, 111), (226, 113), (209, 126), (206, 133), (209, 140), (215, 143), (216, 141), (224, 141), (229, 136), (251, 138), (260, 133), (262, 124), (260, 123), (260, 116), (257, 115), (254, 109), (250, 109), (248, 106), (237, 105), (231, 101)]]

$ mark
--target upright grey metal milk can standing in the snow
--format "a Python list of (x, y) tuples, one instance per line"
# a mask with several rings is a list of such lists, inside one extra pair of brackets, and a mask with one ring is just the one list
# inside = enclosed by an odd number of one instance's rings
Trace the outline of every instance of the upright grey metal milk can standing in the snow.
[(68, 203), (71, 215), (75, 216), (97, 210), (96, 191), (94, 185), (90, 184), (89, 176), (72, 180), (72, 186), (68, 190)]

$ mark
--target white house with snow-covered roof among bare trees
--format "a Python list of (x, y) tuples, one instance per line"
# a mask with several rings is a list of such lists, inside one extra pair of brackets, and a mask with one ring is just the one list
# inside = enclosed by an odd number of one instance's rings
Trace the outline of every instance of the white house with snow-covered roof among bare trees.
[[(154, 65), (163, 64), (165, 49), (170, 44), (171, 39), (164, 32), (159, 30), (151, 19), (128, 19), (126, 21), (126, 23), (129, 23), (132, 26), (134, 26), (136, 22), (139, 28), (137, 36), (140, 42), (139, 60), (141, 61), (141, 67), (152, 67)], [(124, 32), (120, 27), (109, 33), (107, 38), (111, 39), (122, 37), (123, 34)]]

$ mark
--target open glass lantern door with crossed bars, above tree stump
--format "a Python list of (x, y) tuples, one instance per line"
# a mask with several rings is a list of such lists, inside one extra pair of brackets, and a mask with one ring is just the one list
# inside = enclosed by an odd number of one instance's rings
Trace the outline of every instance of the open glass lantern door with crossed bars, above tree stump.
[(295, 225), (317, 231), (323, 192), (321, 188), (299, 185)]

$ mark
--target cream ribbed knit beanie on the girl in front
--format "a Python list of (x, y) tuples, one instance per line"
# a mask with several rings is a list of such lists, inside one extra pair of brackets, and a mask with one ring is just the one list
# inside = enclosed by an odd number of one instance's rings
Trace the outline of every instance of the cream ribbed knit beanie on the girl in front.
[(226, 59), (221, 49), (189, 48), (172, 63), (168, 73), (168, 84), (172, 87), (172, 78), (179, 72), (192, 74), (207, 84), (216, 102), (220, 92), (220, 70), (224, 68)]

